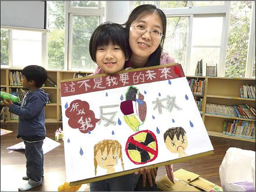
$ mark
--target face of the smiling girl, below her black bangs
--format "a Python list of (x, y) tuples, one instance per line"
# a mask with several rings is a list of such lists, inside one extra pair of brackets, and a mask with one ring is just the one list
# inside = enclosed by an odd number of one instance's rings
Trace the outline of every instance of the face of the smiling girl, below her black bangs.
[(96, 62), (105, 73), (115, 74), (123, 69), (125, 56), (118, 45), (99, 46), (96, 51)]

